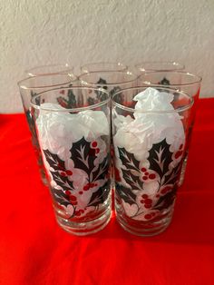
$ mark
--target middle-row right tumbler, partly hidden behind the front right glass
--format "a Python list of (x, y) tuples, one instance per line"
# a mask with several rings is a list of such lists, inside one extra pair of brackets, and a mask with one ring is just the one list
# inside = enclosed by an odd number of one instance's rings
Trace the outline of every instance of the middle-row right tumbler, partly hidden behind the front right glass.
[(193, 112), (191, 113), (191, 123), (189, 130), (189, 138), (187, 141), (185, 159), (183, 161), (183, 167), (180, 175), (180, 185), (184, 182), (188, 152), (190, 146), (190, 138), (192, 128), (195, 122), (195, 114), (197, 109), (197, 103), (199, 100), (199, 90), (202, 78), (196, 74), (190, 74), (182, 71), (160, 71), (160, 72), (144, 72), (138, 78), (138, 85), (155, 85), (162, 86), (164, 88), (176, 89), (184, 93), (188, 93), (194, 99)]

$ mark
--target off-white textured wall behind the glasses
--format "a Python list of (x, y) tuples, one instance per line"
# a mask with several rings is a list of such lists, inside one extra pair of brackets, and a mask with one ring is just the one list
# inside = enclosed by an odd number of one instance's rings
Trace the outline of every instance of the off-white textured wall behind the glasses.
[(0, 0), (0, 112), (34, 65), (178, 61), (214, 96), (214, 0)]

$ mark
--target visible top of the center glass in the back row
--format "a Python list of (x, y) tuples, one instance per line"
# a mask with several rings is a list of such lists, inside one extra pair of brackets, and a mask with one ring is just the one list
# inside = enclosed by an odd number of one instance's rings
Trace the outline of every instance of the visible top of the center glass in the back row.
[(128, 70), (128, 66), (122, 63), (108, 63), (108, 62), (101, 62), (101, 63), (91, 63), (91, 64), (84, 64), (81, 66), (81, 73), (91, 73), (91, 72), (112, 72), (112, 71), (126, 71)]

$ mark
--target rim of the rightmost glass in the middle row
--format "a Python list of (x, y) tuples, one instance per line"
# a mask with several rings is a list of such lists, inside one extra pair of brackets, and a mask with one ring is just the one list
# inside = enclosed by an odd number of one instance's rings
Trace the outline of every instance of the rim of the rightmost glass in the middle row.
[[(138, 76), (138, 79), (141, 79), (141, 77), (143, 77), (145, 74), (163, 74), (163, 73), (167, 73), (169, 72), (170, 74), (185, 74), (185, 75), (188, 75), (190, 76), (191, 78), (195, 78), (196, 80), (194, 82), (191, 82), (189, 84), (169, 84), (167, 86), (188, 86), (188, 85), (194, 85), (194, 84), (200, 84), (201, 81), (202, 81), (202, 77), (197, 75), (197, 74), (191, 74), (189, 72), (186, 72), (186, 71), (181, 71), (181, 70), (173, 70), (173, 71), (164, 71), (164, 70), (160, 70), (160, 71), (145, 71), (143, 72), (142, 74), (140, 74)], [(166, 86), (164, 84), (154, 84), (152, 82), (149, 82), (149, 81), (143, 81), (142, 84), (148, 84), (148, 85), (153, 85), (153, 86)]]

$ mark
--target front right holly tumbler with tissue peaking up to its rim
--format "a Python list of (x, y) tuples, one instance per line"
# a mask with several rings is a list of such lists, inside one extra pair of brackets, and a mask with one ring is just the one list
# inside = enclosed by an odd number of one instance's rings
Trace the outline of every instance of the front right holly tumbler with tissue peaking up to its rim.
[(126, 231), (151, 236), (170, 224), (192, 104), (188, 94), (157, 86), (113, 95), (115, 209)]

